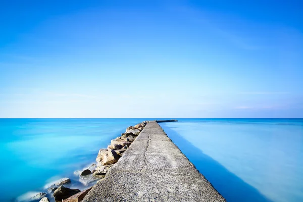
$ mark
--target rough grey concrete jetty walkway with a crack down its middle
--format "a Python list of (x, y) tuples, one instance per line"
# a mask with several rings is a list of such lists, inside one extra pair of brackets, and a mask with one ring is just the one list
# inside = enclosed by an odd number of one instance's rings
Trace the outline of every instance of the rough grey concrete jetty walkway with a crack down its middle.
[(83, 201), (226, 200), (151, 121)]

